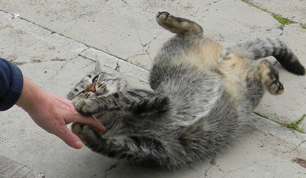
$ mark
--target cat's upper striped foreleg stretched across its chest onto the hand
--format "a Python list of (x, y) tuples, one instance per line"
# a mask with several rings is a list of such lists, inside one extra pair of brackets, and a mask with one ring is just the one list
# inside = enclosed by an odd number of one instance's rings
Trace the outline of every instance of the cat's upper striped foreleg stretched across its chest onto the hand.
[(87, 99), (76, 97), (72, 100), (76, 110), (85, 115), (103, 111), (123, 111), (135, 114), (162, 113), (169, 109), (169, 102), (169, 98), (163, 94), (139, 89)]

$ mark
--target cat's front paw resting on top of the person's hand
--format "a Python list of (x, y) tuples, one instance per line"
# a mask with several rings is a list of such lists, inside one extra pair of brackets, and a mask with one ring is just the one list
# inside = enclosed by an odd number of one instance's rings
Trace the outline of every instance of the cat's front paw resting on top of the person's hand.
[(84, 115), (96, 114), (90, 100), (88, 99), (76, 97), (72, 100), (72, 104), (76, 108), (76, 111), (78, 111), (81, 114), (84, 114)]

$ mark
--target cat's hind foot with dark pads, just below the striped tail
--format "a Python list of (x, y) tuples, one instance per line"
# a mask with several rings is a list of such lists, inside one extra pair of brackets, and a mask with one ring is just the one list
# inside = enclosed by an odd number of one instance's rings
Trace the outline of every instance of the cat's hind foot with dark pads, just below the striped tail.
[(255, 71), (255, 76), (272, 95), (284, 93), (284, 87), (282, 83), (279, 82), (278, 71), (273, 67), (270, 61), (261, 61)]

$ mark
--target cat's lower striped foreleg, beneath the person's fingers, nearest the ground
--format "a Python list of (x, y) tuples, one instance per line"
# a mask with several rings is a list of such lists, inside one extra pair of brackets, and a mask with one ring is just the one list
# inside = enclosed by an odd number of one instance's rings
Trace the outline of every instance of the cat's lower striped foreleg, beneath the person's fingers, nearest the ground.
[(91, 126), (79, 123), (73, 123), (71, 129), (92, 151), (110, 158), (144, 166), (177, 166), (170, 162), (165, 145), (154, 138), (114, 133), (107, 135), (107, 130), (99, 133)]

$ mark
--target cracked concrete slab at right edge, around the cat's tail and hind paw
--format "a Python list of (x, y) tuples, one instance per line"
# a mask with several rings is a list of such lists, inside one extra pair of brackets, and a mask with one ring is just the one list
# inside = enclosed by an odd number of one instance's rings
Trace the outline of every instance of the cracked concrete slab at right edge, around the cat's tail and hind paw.
[[(283, 28), (283, 34), (279, 38), (286, 42), (305, 66), (306, 30), (300, 28), (299, 24), (289, 24)], [(306, 77), (293, 75), (285, 71), (280, 64), (275, 67), (279, 71), (285, 91), (276, 97), (266, 93), (256, 112), (282, 123), (296, 122), (306, 114)], [(306, 119), (301, 124), (301, 127), (303, 126), (306, 130)]]

